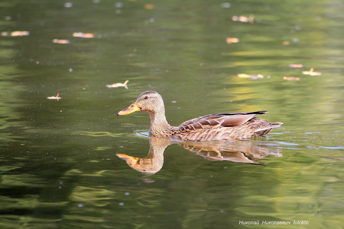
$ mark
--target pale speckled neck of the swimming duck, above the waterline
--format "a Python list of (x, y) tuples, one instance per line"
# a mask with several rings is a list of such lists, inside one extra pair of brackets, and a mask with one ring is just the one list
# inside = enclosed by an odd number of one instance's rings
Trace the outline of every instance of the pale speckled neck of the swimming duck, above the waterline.
[(151, 111), (149, 116), (151, 118), (149, 133), (157, 137), (170, 137), (169, 130), (171, 130), (172, 126), (166, 121), (165, 109)]

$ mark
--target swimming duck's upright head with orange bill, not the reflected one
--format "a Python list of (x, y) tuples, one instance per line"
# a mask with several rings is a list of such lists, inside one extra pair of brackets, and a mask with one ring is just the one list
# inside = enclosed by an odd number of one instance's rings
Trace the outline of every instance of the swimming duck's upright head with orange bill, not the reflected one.
[(117, 113), (117, 115), (127, 115), (137, 111), (157, 112), (164, 110), (164, 101), (156, 91), (145, 91), (127, 108)]

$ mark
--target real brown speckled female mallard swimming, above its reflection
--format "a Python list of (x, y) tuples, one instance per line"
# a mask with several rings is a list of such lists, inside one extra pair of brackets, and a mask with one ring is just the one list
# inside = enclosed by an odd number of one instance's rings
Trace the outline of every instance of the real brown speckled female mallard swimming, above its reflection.
[(246, 113), (221, 113), (194, 118), (180, 126), (170, 126), (165, 117), (165, 106), (161, 95), (155, 91), (146, 91), (130, 106), (117, 113), (127, 115), (136, 111), (148, 111), (151, 124), (149, 133), (156, 137), (170, 137), (184, 141), (207, 141), (233, 138), (252, 138), (265, 136), (272, 128), (283, 123), (270, 123), (256, 118), (267, 111)]

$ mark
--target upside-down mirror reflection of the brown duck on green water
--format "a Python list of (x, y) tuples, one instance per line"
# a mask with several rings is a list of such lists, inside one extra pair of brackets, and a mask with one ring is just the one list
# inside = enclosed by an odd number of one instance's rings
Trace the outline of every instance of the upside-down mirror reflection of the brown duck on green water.
[(210, 161), (234, 161), (251, 164), (259, 164), (256, 159), (266, 158), (268, 155), (281, 157), (278, 149), (264, 147), (263, 144), (251, 140), (232, 140), (216, 142), (191, 142), (173, 141), (169, 138), (151, 136), (149, 139), (149, 153), (144, 158), (137, 158), (127, 154), (117, 153), (116, 155), (125, 160), (127, 164), (145, 175), (157, 173), (164, 163), (164, 151), (167, 146), (177, 144), (190, 152)]

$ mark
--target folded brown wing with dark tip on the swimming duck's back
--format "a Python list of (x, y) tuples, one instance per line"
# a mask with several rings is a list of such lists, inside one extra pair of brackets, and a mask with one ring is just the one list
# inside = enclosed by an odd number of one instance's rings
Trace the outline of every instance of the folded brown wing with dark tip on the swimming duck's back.
[(267, 111), (244, 112), (244, 113), (220, 113), (194, 118), (182, 123), (178, 129), (180, 133), (188, 133), (215, 127), (237, 127), (243, 125), (250, 119), (269, 113)]

